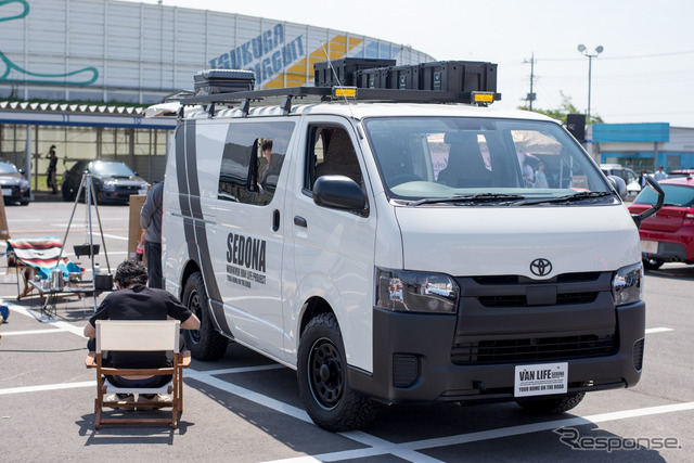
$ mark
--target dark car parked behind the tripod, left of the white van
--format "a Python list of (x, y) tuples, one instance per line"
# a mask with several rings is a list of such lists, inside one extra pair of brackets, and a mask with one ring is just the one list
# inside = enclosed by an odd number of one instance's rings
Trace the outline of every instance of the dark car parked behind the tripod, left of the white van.
[[(78, 160), (63, 175), (63, 201), (75, 201), (85, 172), (91, 172), (97, 202), (128, 204), (131, 194), (145, 194), (147, 182), (119, 160)], [(82, 188), (80, 201), (87, 188)]]

